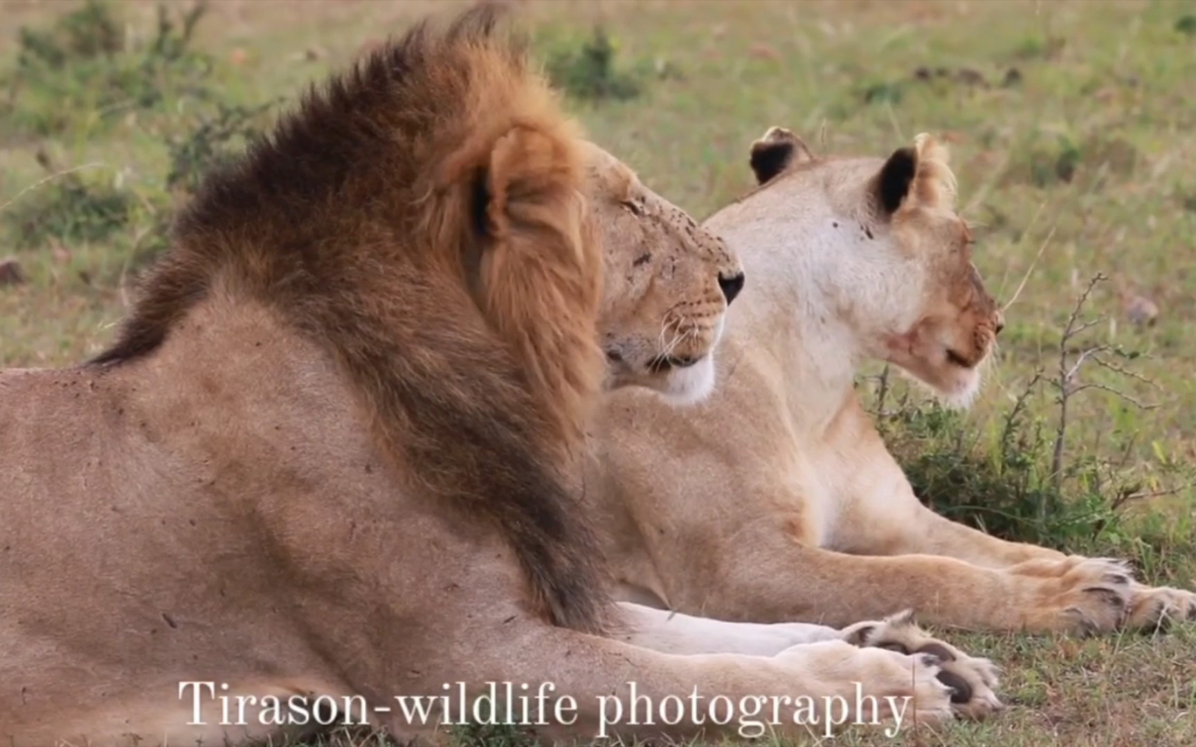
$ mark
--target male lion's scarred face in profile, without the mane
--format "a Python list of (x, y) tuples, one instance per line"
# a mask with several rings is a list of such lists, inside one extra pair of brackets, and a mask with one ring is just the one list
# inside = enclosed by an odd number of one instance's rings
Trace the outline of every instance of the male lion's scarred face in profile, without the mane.
[(744, 284), (722, 239), (586, 145), (586, 191), (605, 246), (600, 343), (609, 386), (639, 385), (676, 402), (714, 386), (714, 348)]

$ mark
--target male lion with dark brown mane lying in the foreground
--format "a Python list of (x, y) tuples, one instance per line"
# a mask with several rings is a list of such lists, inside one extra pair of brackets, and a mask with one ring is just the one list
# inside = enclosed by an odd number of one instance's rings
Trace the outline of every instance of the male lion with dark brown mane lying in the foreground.
[(532, 711), (548, 739), (737, 728), (630, 718), (631, 692), (999, 706), (905, 617), (609, 601), (588, 412), (608, 378), (701, 397), (743, 277), (493, 25), (420, 26), (310, 94), (208, 179), (111, 348), (0, 374), (0, 743), (425, 737), (492, 681), (574, 699)]

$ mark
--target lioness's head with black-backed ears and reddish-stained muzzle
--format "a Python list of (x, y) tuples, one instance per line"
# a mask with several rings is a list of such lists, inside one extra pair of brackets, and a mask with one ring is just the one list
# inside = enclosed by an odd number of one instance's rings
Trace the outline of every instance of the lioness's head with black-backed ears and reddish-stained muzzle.
[(946, 147), (919, 135), (886, 160), (817, 158), (774, 127), (750, 161), (768, 204), (801, 215), (808, 235), (795, 240), (817, 252), (810, 287), (826, 292), (861, 351), (966, 405), (1003, 323), (971, 261)]

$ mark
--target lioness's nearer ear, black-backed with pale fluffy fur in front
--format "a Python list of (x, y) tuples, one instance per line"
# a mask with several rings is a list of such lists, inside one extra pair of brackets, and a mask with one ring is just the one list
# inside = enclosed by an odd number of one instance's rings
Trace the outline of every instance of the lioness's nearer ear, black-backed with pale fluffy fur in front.
[(886, 215), (904, 207), (954, 207), (956, 177), (946, 146), (921, 134), (914, 147), (898, 148), (875, 176), (872, 191)]

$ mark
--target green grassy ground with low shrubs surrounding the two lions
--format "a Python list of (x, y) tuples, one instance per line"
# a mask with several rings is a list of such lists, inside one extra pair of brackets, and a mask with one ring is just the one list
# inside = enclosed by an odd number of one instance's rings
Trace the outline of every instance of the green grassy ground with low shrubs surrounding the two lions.
[[(197, 170), (264, 127), (280, 97), (443, 6), (218, 2), (188, 30), (185, 6), (121, 4), (110, 23), (91, 18), (94, 38), (51, 30), (73, 7), (4, 8), (0, 246), (28, 282), (0, 286), (2, 366), (98, 350)], [(773, 124), (817, 152), (948, 140), (1007, 329), (963, 416), (871, 369), (860, 386), (886, 437), (944, 513), (1196, 582), (1196, 4), (521, 7), (591, 136), (697, 216), (750, 186), (748, 147)], [(23, 61), (31, 43), (44, 54)], [(1099, 386), (1068, 394), (1061, 435), (1061, 338), (1098, 273), (1109, 280), (1078, 318), (1099, 322), (1063, 355), (1107, 347), (1109, 365), (1081, 367), (1072, 386)], [(1135, 320), (1151, 306), (1149, 324)], [(1006, 668), (1012, 708), (892, 743), (1196, 743), (1191, 630), (958, 638)]]

